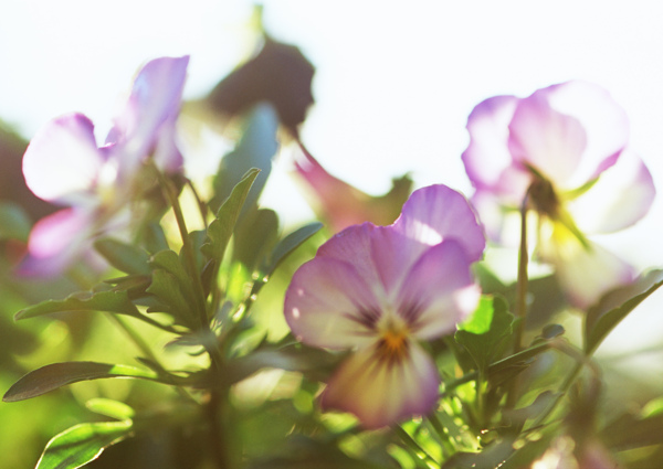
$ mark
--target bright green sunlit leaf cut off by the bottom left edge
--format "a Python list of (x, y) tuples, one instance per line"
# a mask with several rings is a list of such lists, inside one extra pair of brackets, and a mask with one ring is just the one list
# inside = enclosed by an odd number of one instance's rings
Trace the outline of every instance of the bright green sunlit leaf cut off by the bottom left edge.
[(73, 426), (46, 445), (35, 469), (76, 469), (99, 457), (102, 451), (131, 433), (131, 420), (97, 422)]

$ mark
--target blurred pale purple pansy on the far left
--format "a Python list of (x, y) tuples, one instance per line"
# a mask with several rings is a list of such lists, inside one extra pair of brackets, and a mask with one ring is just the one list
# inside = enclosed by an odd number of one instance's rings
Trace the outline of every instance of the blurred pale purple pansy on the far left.
[(175, 121), (188, 62), (148, 62), (102, 147), (82, 114), (53, 119), (34, 136), (23, 156), (25, 182), (39, 198), (65, 207), (34, 225), (20, 274), (61, 274), (90, 254), (95, 236), (126, 226), (129, 205), (145, 191), (140, 170), (147, 158), (161, 171), (181, 170)]

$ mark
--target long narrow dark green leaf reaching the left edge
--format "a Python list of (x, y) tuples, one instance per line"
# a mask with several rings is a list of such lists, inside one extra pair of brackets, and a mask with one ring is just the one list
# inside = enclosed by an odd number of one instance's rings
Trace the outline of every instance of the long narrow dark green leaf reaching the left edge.
[(24, 401), (41, 396), (67, 384), (105, 377), (137, 377), (159, 381), (156, 373), (128, 365), (97, 362), (52, 363), (31, 371), (17, 381), (4, 394), (2, 401)]

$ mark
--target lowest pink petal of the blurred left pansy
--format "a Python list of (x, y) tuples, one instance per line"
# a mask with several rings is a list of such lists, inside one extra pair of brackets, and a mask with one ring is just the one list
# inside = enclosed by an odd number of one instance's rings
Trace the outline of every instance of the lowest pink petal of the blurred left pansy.
[(71, 267), (92, 249), (94, 214), (87, 210), (64, 209), (32, 227), (28, 256), (18, 267), (24, 276), (53, 277)]

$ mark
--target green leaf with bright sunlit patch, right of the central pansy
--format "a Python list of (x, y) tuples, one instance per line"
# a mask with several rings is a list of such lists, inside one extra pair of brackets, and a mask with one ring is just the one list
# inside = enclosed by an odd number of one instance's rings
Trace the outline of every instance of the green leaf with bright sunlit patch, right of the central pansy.
[(499, 297), (483, 297), (469, 321), (459, 326), (455, 340), (484, 372), (501, 356), (512, 338), (514, 316)]

